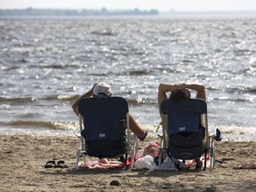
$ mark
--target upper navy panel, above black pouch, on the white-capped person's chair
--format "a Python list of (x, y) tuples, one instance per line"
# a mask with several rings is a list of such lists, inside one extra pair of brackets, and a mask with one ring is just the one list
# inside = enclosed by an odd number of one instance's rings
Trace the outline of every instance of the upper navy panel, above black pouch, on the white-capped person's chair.
[(85, 140), (124, 138), (124, 120), (129, 112), (127, 100), (124, 98), (84, 98), (78, 103), (78, 112), (84, 117), (82, 135)]

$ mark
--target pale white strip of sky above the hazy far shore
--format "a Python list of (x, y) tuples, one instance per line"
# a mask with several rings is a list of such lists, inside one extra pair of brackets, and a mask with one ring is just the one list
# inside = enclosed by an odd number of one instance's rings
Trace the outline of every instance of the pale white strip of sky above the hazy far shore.
[(0, 0), (0, 9), (156, 9), (159, 12), (256, 11), (256, 0)]

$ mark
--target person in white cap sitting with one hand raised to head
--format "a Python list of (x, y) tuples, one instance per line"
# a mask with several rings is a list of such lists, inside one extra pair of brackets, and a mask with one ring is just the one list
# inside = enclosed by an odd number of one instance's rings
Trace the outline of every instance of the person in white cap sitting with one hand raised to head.
[[(76, 116), (78, 116), (78, 103), (84, 97), (111, 97), (113, 92), (109, 84), (100, 82), (98, 84), (93, 84), (92, 89), (88, 92), (85, 92), (81, 95), (72, 105), (73, 111), (75, 112)], [(141, 125), (135, 120), (132, 114), (129, 113), (129, 123), (131, 131), (141, 140), (145, 140), (148, 132), (145, 132)], [(107, 159), (100, 159), (100, 163), (108, 163)]]

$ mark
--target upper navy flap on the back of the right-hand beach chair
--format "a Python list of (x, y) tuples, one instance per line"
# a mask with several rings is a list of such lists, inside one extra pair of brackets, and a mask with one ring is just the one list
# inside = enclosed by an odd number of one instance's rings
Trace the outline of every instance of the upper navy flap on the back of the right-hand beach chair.
[(161, 113), (167, 115), (169, 134), (196, 132), (201, 125), (201, 115), (207, 114), (207, 105), (201, 99), (185, 99), (178, 102), (163, 100)]

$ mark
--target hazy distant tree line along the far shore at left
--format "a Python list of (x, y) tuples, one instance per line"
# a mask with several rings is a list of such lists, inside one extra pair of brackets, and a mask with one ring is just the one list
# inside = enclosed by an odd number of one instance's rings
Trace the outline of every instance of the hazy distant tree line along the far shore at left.
[(108, 11), (106, 8), (101, 10), (62, 10), (62, 9), (2, 9), (0, 16), (94, 16), (94, 15), (156, 15), (159, 12), (155, 9), (149, 11), (123, 10), (123, 11)]

